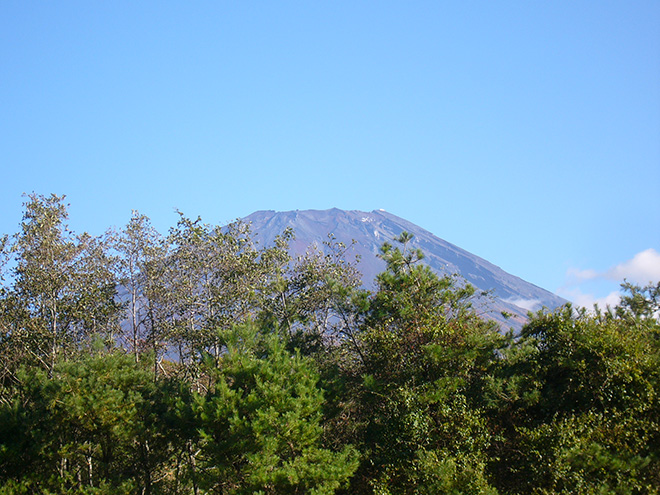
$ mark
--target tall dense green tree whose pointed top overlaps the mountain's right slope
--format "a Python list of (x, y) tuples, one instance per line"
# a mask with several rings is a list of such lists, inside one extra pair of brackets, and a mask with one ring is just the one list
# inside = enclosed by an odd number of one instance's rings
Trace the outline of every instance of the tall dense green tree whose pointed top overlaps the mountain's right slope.
[(363, 462), (354, 492), (492, 491), (482, 381), (499, 334), (470, 311), (473, 289), (440, 278), (423, 254), (385, 244), (386, 270), (368, 300), (358, 338), (355, 415)]

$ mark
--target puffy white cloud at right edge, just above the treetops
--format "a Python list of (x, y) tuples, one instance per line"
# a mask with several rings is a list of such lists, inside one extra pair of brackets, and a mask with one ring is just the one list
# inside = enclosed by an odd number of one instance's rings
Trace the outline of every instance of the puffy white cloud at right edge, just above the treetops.
[(621, 300), (621, 294), (618, 291), (611, 291), (605, 296), (597, 296), (586, 291), (583, 286), (592, 281), (620, 283), (624, 280), (642, 286), (660, 281), (660, 253), (655, 249), (646, 249), (604, 271), (571, 268), (566, 272), (564, 287), (557, 293), (578, 306), (592, 308), (594, 304), (598, 304), (599, 307), (605, 308), (617, 305)]

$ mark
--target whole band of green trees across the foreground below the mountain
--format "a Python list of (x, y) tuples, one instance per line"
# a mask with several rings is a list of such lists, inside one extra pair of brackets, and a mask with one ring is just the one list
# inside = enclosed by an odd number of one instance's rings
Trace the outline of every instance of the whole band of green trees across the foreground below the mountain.
[(660, 283), (514, 334), (405, 232), (367, 291), (331, 236), (67, 220), (0, 237), (0, 493), (660, 492)]

